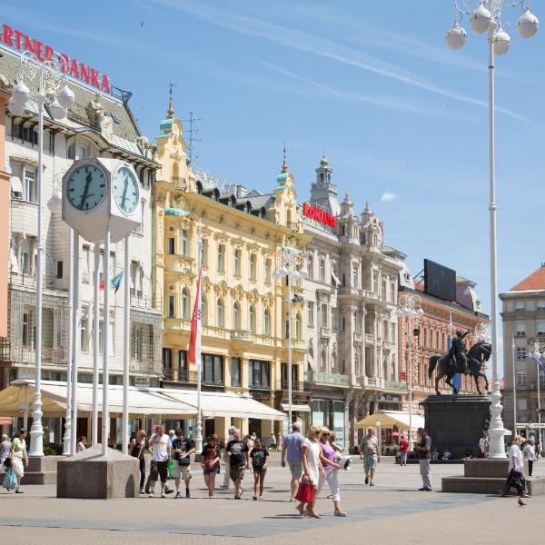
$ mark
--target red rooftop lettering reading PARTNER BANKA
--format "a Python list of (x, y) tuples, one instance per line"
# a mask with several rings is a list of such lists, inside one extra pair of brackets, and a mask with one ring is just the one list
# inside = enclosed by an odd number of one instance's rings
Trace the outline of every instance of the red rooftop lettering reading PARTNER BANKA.
[[(30, 51), (35, 54), (40, 61), (51, 57), (54, 54), (53, 47), (36, 40), (35, 38), (25, 35), (24, 32), (12, 28), (9, 25), (0, 26), (0, 43), (16, 49), (17, 51)], [(63, 63), (61, 69), (66, 74), (72, 76), (84, 84), (91, 85), (104, 93), (110, 93), (110, 80), (106, 74), (101, 74), (99, 70), (95, 70), (93, 66), (80, 63), (77, 59), (69, 57), (67, 54), (61, 53)]]

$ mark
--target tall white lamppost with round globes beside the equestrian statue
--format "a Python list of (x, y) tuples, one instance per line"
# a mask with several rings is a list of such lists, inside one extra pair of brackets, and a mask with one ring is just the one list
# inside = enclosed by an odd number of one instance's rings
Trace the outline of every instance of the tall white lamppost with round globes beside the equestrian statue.
[[(463, 7), (461, 7), (461, 5)], [(502, 25), (501, 15), (508, 7), (520, 7), (522, 15), (517, 22), (517, 32), (523, 38), (530, 38), (538, 32), (540, 22), (530, 13), (528, 0), (454, 0), (454, 8), (457, 15), (454, 17), (454, 25), (445, 36), (447, 44), (452, 49), (460, 49), (466, 41), (467, 33), (460, 25), (463, 15), (470, 18), (471, 29), (475, 34), (488, 34), (489, 43), (489, 160), (490, 160), (490, 326), (492, 344), (492, 393), (490, 404), (490, 458), (505, 459), (505, 445), (503, 436), (506, 431), (501, 420), (501, 394), (500, 377), (498, 375), (498, 261), (496, 243), (496, 173), (495, 173), (495, 147), (494, 147), (494, 55), (506, 54), (510, 48), (510, 35)], [(470, 8), (470, 9), (467, 9)]]

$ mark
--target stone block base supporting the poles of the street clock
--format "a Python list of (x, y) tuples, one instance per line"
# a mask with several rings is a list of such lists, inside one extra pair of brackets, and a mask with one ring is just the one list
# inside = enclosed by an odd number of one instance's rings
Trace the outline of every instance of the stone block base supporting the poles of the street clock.
[(138, 460), (100, 444), (57, 462), (57, 498), (136, 498), (139, 485)]

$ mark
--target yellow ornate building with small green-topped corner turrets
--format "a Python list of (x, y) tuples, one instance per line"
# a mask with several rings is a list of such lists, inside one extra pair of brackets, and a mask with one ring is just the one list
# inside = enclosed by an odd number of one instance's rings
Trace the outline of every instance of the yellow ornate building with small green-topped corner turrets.
[[(163, 300), (163, 385), (195, 388), (196, 367), (187, 352), (198, 263), (203, 263), (203, 390), (249, 393), (280, 411), (288, 402), (288, 302), (286, 280), (273, 272), (286, 248), (304, 255), (294, 180), (284, 161), (272, 193), (219, 183), (188, 165), (183, 127), (172, 104), (160, 125), (154, 185), (154, 285)], [(199, 259), (199, 232), (203, 250)], [(292, 284), (292, 403), (304, 420), (305, 354), (302, 280)], [(296, 407), (295, 407), (296, 409)], [(276, 437), (281, 423), (247, 418), (206, 420), (205, 436), (226, 437), (229, 426)], [(283, 424), (285, 427), (285, 423)], [(275, 428), (276, 426), (276, 428)]]

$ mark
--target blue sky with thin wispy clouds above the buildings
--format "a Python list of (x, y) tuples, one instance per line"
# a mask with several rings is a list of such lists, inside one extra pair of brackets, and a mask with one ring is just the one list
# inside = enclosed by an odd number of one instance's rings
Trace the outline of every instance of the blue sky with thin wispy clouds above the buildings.
[[(325, 149), (340, 193), (359, 211), (371, 203), (412, 272), (425, 257), (444, 263), (490, 308), (487, 46), (469, 33), (447, 48), (450, 1), (21, 5), (5, 0), (2, 22), (132, 91), (150, 139), (176, 84), (176, 114), (202, 119), (194, 163), (233, 183), (269, 191), (285, 140), (302, 202)], [(500, 292), (545, 262), (545, 29), (520, 38), (519, 15), (504, 18), (512, 45), (496, 71)]]

